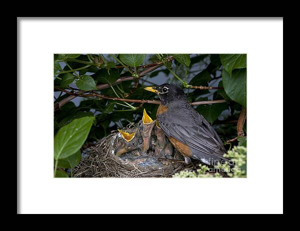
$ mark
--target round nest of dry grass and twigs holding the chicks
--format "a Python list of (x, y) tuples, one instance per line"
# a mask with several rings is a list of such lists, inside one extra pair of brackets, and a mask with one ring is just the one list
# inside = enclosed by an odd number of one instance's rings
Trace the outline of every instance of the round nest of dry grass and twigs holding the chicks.
[[(152, 156), (143, 164), (138, 161), (141, 157), (134, 157), (130, 153), (119, 157), (114, 154), (114, 147), (119, 140), (117, 132), (102, 138), (95, 146), (86, 148), (82, 152), (80, 163), (75, 166), (73, 177), (171, 177), (174, 173), (184, 169), (191, 170), (182, 160), (182, 156), (174, 150), (172, 159), (155, 159)], [(131, 157), (129, 157), (131, 156)]]

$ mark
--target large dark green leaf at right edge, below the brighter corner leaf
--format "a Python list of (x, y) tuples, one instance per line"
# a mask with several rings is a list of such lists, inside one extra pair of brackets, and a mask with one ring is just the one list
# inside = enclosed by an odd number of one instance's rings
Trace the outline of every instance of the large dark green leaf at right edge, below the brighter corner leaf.
[(226, 94), (232, 100), (246, 107), (246, 68), (233, 70), (231, 77), (223, 69), (222, 80)]

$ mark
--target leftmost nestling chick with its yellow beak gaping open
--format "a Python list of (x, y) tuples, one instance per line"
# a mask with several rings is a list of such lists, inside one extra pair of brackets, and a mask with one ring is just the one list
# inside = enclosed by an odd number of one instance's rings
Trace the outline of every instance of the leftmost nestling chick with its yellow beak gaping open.
[(127, 130), (128, 132), (120, 129), (118, 131), (121, 138), (118, 138), (115, 143), (115, 155), (121, 155), (128, 151), (133, 151), (132, 153), (135, 155), (140, 155), (138, 149), (141, 148), (141, 142), (138, 129), (130, 129)]

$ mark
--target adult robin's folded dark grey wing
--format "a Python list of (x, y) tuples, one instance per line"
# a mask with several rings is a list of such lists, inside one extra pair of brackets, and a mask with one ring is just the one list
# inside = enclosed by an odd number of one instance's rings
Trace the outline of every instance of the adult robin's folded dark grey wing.
[(207, 154), (225, 152), (221, 139), (213, 127), (188, 103), (172, 105), (166, 113), (157, 115), (159, 126), (166, 136)]

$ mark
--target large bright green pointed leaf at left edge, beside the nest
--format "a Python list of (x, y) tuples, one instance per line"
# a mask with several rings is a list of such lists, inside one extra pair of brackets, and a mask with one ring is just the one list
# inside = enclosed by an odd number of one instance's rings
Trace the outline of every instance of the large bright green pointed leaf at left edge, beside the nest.
[(61, 127), (54, 137), (54, 158), (66, 158), (78, 151), (88, 135), (93, 120), (93, 116), (85, 116)]

